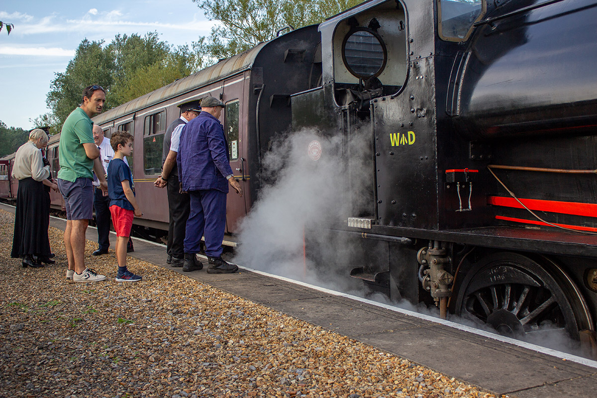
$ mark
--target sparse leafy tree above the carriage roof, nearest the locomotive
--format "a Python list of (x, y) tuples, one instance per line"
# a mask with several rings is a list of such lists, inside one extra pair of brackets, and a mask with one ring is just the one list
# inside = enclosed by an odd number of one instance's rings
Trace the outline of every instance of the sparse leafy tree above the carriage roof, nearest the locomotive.
[(211, 29), (202, 50), (213, 58), (229, 58), (259, 42), (273, 39), (284, 26), (294, 28), (321, 23), (325, 18), (363, 0), (193, 0), (209, 20)]

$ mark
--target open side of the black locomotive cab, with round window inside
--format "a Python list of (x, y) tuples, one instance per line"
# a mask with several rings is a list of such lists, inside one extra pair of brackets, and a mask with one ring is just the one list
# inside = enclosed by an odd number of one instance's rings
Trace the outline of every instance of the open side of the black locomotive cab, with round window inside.
[(398, 92), (407, 76), (406, 18), (389, 0), (340, 21), (334, 32), (334, 91), (339, 106), (368, 115), (371, 98)]

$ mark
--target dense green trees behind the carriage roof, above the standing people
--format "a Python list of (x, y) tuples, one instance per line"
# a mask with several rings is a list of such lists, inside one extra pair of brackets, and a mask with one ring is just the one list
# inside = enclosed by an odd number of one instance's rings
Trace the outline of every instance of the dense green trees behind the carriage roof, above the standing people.
[(59, 132), (64, 120), (82, 101), (85, 87), (99, 84), (106, 90), (104, 111), (163, 87), (198, 70), (199, 47), (171, 47), (157, 32), (144, 36), (116, 35), (108, 45), (84, 39), (66, 71), (56, 73), (47, 95), (51, 112), (33, 122)]

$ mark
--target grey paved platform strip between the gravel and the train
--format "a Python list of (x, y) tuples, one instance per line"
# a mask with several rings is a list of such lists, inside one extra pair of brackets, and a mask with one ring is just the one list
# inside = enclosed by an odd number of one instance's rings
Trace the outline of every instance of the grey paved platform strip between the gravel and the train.
[[(14, 208), (0, 205), (7, 211)], [(64, 229), (64, 220), (50, 225)], [(97, 240), (90, 227), (88, 240)], [(115, 235), (110, 236), (112, 247)], [(597, 362), (578, 357), (558, 357), (549, 350), (500, 341), (497, 335), (470, 332), (466, 327), (429, 316), (408, 314), (348, 295), (293, 283), (259, 271), (208, 274), (205, 270), (183, 273), (165, 265), (165, 247), (134, 239), (133, 257), (178, 271), (187, 277), (230, 292), (298, 319), (451, 377), (475, 384), (497, 395), (519, 398), (589, 397), (597, 386)], [(242, 265), (242, 264), (241, 264)], [(496, 338), (494, 338), (496, 337)], [(498, 340), (500, 339), (500, 340)]]

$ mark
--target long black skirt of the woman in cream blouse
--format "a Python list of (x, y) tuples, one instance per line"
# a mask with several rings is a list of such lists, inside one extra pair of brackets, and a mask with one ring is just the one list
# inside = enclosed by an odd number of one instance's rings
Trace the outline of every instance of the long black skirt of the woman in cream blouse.
[(35, 181), (33, 178), (19, 180), (11, 257), (24, 257), (27, 254), (50, 255), (47, 221), (49, 209), (46, 196), (48, 195), (41, 181)]

